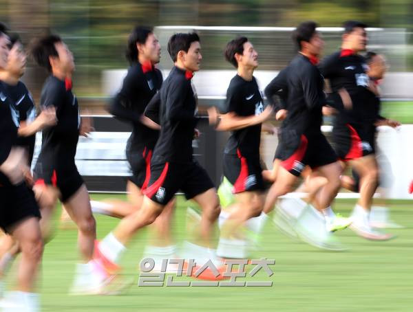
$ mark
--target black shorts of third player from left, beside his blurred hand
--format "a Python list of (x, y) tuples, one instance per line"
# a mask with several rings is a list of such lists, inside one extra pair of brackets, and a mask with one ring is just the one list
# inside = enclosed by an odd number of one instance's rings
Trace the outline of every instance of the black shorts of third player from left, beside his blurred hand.
[(75, 165), (59, 170), (43, 166), (41, 161), (37, 161), (33, 173), (36, 185), (49, 185), (59, 189), (62, 203), (70, 199), (85, 183)]

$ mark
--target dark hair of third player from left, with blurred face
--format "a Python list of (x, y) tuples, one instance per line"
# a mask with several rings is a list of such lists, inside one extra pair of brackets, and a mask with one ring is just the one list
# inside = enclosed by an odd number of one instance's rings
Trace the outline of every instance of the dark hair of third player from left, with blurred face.
[(47, 71), (52, 71), (52, 65), (50, 65), (50, 56), (57, 56), (56, 47), (54, 46), (55, 43), (62, 42), (60, 36), (56, 34), (49, 34), (47, 36), (43, 36), (38, 39), (34, 39), (30, 46), (30, 54), (34, 61), (39, 64), (41, 67), (45, 67)]

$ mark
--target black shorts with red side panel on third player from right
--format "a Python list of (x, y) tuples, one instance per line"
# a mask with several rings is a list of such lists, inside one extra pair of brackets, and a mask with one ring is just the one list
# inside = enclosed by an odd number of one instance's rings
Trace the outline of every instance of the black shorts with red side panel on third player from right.
[(301, 175), (305, 166), (315, 169), (337, 161), (335, 151), (322, 133), (297, 135), (294, 130), (279, 133), (275, 159), (292, 175)]

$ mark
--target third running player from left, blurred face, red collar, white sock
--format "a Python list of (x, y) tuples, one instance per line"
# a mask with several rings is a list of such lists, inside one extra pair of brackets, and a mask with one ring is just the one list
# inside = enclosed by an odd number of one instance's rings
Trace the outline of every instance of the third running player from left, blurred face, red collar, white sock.
[(89, 194), (79, 174), (74, 156), (79, 135), (87, 136), (89, 122), (81, 120), (76, 96), (72, 93), (74, 58), (67, 45), (56, 35), (39, 38), (33, 43), (32, 56), (49, 71), (41, 92), (41, 107), (54, 107), (58, 122), (43, 130), (41, 152), (34, 167), (34, 192), (41, 210), (52, 211), (59, 198), (78, 227), (78, 248), (83, 263), (77, 266), (72, 293), (100, 291), (102, 274), (92, 260), (96, 223)]

